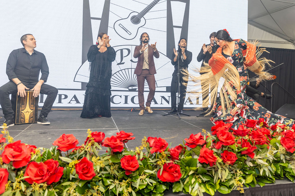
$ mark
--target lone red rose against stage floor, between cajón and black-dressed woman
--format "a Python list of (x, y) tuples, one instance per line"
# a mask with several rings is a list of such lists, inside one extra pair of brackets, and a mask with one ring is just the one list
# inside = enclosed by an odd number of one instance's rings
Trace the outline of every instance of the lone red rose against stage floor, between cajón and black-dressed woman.
[(58, 150), (66, 152), (75, 148), (78, 143), (73, 134), (63, 134), (53, 142), (53, 145), (58, 146)]

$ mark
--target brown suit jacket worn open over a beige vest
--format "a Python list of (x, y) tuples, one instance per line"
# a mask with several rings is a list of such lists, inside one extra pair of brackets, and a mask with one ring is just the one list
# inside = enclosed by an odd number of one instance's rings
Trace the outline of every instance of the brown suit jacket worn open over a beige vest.
[[(134, 74), (136, 75), (140, 75), (141, 71), (142, 71), (142, 66), (143, 66), (143, 58), (144, 58), (144, 52), (140, 54), (140, 49), (142, 48), (142, 44), (139, 46), (136, 46), (134, 49), (134, 54), (133, 57), (134, 58), (138, 58), (137, 59), (137, 66), (135, 68)], [(159, 58), (159, 52), (158, 50), (156, 50), (154, 52), (152, 46), (148, 46), (148, 62), (149, 62), (149, 69), (150, 69), (150, 74), (155, 74), (156, 72), (156, 68), (155, 68), (155, 62), (154, 62), (154, 56), (155, 58)]]

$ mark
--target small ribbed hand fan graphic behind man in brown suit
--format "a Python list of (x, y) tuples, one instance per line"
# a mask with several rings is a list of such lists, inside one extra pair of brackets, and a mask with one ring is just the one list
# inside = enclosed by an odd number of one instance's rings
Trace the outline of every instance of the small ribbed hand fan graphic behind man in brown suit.
[[(115, 72), (111, 77), (111, 86), (125, 88), (129, 91), (136, 91), (137, 78), (134, 74), (135, 68), (126, 68)], [(157, 87), (157, 82), (156, 82)], [(148, 88), (148, 83), (145, 81), (144, 88)]]

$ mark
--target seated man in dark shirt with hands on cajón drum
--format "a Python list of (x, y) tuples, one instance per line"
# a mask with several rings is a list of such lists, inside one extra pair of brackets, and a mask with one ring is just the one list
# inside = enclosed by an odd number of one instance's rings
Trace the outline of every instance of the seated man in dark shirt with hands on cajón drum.
[[(9, 82), (0, 87), (0, 105), (3, 110), (7, 127), (14, 125), (12, 104), (9, 94), (17, 93), (17, 95), (26, 96), (25, 90), (31, 90), (33, 96), (39, 94), (47, 95), (44, 105), (40, 112), (37, 123), (49, 125), (47, 115), (55, 101), (58, 90), (53, 86), (44, 84), (49, 74), (46, 58), (43, 53), (34, 50), (36, 48), (36, 40), (32, 34), (25, 34), (20, 39), (24, 48), (13, 50), (8, 57), (6, 64), (6, 74)], [(41, 70), (41, 78), (39, 74)], [(3, 123), (3, 124), (4, 124)], [(3, 128), (3, 124), (0, 128)]]

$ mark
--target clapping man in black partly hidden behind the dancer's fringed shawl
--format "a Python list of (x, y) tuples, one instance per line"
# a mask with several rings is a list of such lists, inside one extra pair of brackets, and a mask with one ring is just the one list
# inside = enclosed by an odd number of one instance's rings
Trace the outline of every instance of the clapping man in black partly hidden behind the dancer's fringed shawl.
[[(207, 45), (203, 44), (203, 46), (201, 48), (201, 51), (200, 51), (199, 55), (197, 56), (197, 61), (198, 62), (202, 61), (200, 74), (203, 74), (202, 73), (202, 67), (204, 66), (204, 63), (208, 63), (209, 59), (216, 52), (217, 48), (219, 48), (219, 46), (216, 44), (215, 39), (214, 39), (215, 34), (216, 34), (216, 32), (213, 32), (213, 33), (210, 34), (210, 36), (209, 36), (210, 43), (207, 44)], [(203, 85), (204, 85), (204, 83), (201, 81), (202, 90), (203, 90)], [(209, 106), (209, 97), (208, 96), (203, 96), (203, 93), (202, 93), (202, 106), (203, 106), (203, 111), (199, 116), (204, 116), (207, 113), (209, 113), (207, 111), (208, 106)]]

